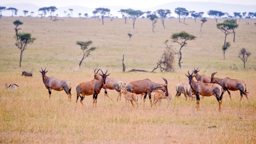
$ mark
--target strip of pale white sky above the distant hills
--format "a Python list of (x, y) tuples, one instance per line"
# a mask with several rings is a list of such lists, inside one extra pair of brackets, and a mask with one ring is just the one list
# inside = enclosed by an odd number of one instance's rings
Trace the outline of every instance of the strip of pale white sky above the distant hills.
[[(149, 8), (168, 2), (180, 0), (0, 0), (0, 5), (7, 3), (31, 3), (40, 7), (54, 5), (56, 7), (79, 5), (89, 8), (99, 6), (126, 6), (134, 8)], [(256, 0), (182, 0), (186, 2), (222, 2), (228, 4), (256, 5)]]

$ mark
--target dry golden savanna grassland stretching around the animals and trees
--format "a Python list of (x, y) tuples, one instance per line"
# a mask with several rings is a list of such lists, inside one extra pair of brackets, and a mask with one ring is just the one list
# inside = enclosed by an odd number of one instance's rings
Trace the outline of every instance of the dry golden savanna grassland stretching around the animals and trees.
[[(31, 33), (37, 39), (24, 51), (21, 68), (20, 51), (14, 45), (13, 21), (23, 22), (20, 32)], [(223, 19), (219, 19), (222, 22)], [(131, 19), (105, 19), (102, 26), (98, 19), (63, 18), (50, 21), (49, 18), (2, 17), (0, 19), (0, 143), (256, 143), (256, 26), (255, 19), (237, 21), (236, 42), (233, 35), (227, 37), (231, 46), (223, 59), (221, 47), (224, 34), (216, 28), (214, 19), (208, 19), (200, 33), (200, 22), (186, 19), (186, 25), (178, 19), (166, 19), (165, 29), (158, 20), (155, 33), (151, 21), (137, 19), (135, 29)], [(246, 24), (246, 23), (250, 24)], [(164, 42), (173, 33), (186, 31), (197, 38), (189, 41), (182, 50), (182, 69), (175, 57), (175, 73), (141, 73), (122, 71), (122, 55), (125, 55), (126, 70), (133, 68), (152, 70), (165, 49)], [(133, 34), (131, 40), (127, 33)], [(76, 41), (92, 40), (97, 51), (86, 58), (79, 69), (82, 51)], [(178, 48), (179, 45), (171, 43)], [(237, 57), (245, 47), (252, 54), (243, 69)], [(67, 101), (64, 91), (52, 91), (49, 100), (39, 72), (47, 67), (47, 76), (67, 79), (72, 84), (72, 101)], [(249, 101), (240, 93), (231, 91), (223, 96), (222, 111), (218, 111), (216, 98), (200, 100), (200, 111), (196, 102), (186, 101), (184, 95), (174, 98), (175, 85), (187, 82), (184, 75), (193, 67), (199, 67), (200, 74), (219, 78), (241, 79), (247, 84)], [(130, 82), (149, 78), (164, 83), (172, 95), (173, 111), (163, 101), (161, 109), (151, 109), (149, 100), (144, 108), (125, 106), (122, 96), (116, 102), (118, 93), (109, 90), (113, 101), (104, 98), (102, 90), (97, 107), (93, 108), (92, 96), (86, 96), (84, 106), (75, 103), (75, 87), (81, 81), (93, 79), (93, 70), (108, 69), (110, 78)], [(33, 72), (33, 78), (21, 77), (21, 71)], [(17, 91), (6, 91), (5, 82), (15, 82)], [(142, 106), (143, 100), (138, 100)]]

